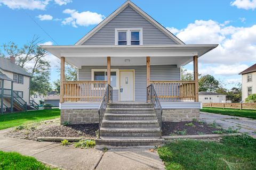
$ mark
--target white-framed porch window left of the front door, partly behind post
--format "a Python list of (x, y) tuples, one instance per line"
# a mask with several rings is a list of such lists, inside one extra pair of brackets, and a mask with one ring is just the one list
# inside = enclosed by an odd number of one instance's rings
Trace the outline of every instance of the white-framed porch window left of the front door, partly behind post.
[[(111, 69), (110, 72), (110, 85), (113, 88), (117, 88), (118, 87), (118, 69)], [(108, 73), (107, 70), (105, 69), (92, 69), (92, 80), (93, 81), (107, 81), (108, 80)]]

